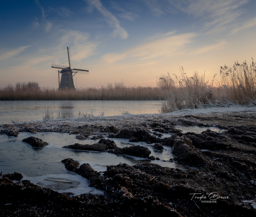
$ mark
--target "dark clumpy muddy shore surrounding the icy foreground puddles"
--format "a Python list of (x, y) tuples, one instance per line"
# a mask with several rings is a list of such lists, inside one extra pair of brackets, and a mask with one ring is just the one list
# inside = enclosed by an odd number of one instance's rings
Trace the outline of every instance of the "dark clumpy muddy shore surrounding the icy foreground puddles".
[[(20, 174), (0, 178), (1, 216), (256, 216), (256, 111), (204, 115), (137, 115), (99, 117), (76, 121), (41, 121), (0, 125), (0, 132), (68, 132), (94, 145), (66, 148), (109, 151), (151, 157), (151, 164), (108, 166), (98, 172), (88, 164), (63, 159), (67, 170), (90, 181), (105, 195), (72, 196), (20, 180)], [(181, 132), (176, 126), (218, 127), (200, 134)], [(163, 134), (171, 133), (170, 137)], [(154, 164), (154, 154), (140, 147), (120, 149), (111, 138), (144, 141), (157, 151), (172, 147), (184, 169)], [(92, 138), (91, 138), (92, 139)], [(38, 142), (30, 140), (33, 144)], [(39, 142), (40, 144), (43, 141)], [(42, 146), (40, 146), (43, 148)]]

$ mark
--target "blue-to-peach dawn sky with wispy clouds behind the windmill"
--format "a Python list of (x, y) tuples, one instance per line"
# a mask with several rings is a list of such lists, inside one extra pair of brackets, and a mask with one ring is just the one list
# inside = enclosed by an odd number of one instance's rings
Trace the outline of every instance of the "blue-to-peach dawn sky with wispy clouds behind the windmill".
[[(161, 76), (205, 73), (256, 60), (255, 0), (3, 0), (0, 87), (58, 87), (51, 64), (89, 70), (77, 88), (123, 82), (156, 86)], [(173, 75), (174, 74), (174, 75)]]

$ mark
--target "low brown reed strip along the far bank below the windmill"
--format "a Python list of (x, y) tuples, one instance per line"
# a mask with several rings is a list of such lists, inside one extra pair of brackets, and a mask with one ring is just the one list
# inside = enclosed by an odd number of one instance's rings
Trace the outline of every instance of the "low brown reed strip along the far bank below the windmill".
[(100, 87), (77, 90), (39, 88), (18, 91), (12, 86), (0, 89), (0, 100), (160, 100), (169, 90), (161, 87)]

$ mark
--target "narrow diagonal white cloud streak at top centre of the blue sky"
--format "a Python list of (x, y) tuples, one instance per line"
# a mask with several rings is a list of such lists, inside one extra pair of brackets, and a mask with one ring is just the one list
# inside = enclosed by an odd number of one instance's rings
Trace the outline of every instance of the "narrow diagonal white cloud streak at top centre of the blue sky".
[(88, 2), (91, 7), (96, 8), (97, 11), (99, 11), (105, 17), (106, 22), (107, 24), (109, 24), (109, 26), (115, 28), (113, 32), (114, 37), (119, 36), (123, 39), (126, 39), (129, 36), (125, 29), (120, 26), (119, 20), (102, 5), (100, 0), (85, 1)]

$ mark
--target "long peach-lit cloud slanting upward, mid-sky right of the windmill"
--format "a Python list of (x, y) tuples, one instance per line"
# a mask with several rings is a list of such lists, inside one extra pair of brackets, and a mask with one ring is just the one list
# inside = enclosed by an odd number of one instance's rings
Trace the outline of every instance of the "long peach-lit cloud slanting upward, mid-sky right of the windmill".
[(113, 63), (130, 57), (139, 58), (140, 60), (158, 57), (173, 57), (183, 53), (184, 46), (191, 43), (191, 38), (195, 36), (195, 33), (185, 33), (159, 38), (123, 53), (109, 53), (104, 55), (103, 60)]

